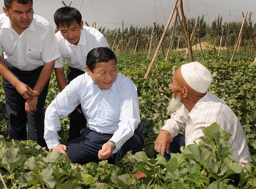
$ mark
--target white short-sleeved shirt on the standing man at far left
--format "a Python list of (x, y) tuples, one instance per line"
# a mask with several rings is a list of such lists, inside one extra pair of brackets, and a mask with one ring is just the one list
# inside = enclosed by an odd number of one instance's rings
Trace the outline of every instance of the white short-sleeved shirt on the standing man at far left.
[(60, 57), (53, 28), (48, 20), (38, 15), (22, 34), (12, 28), (9, 17), (0, 15), (0, 53), (19, 70), (33, 70)]

